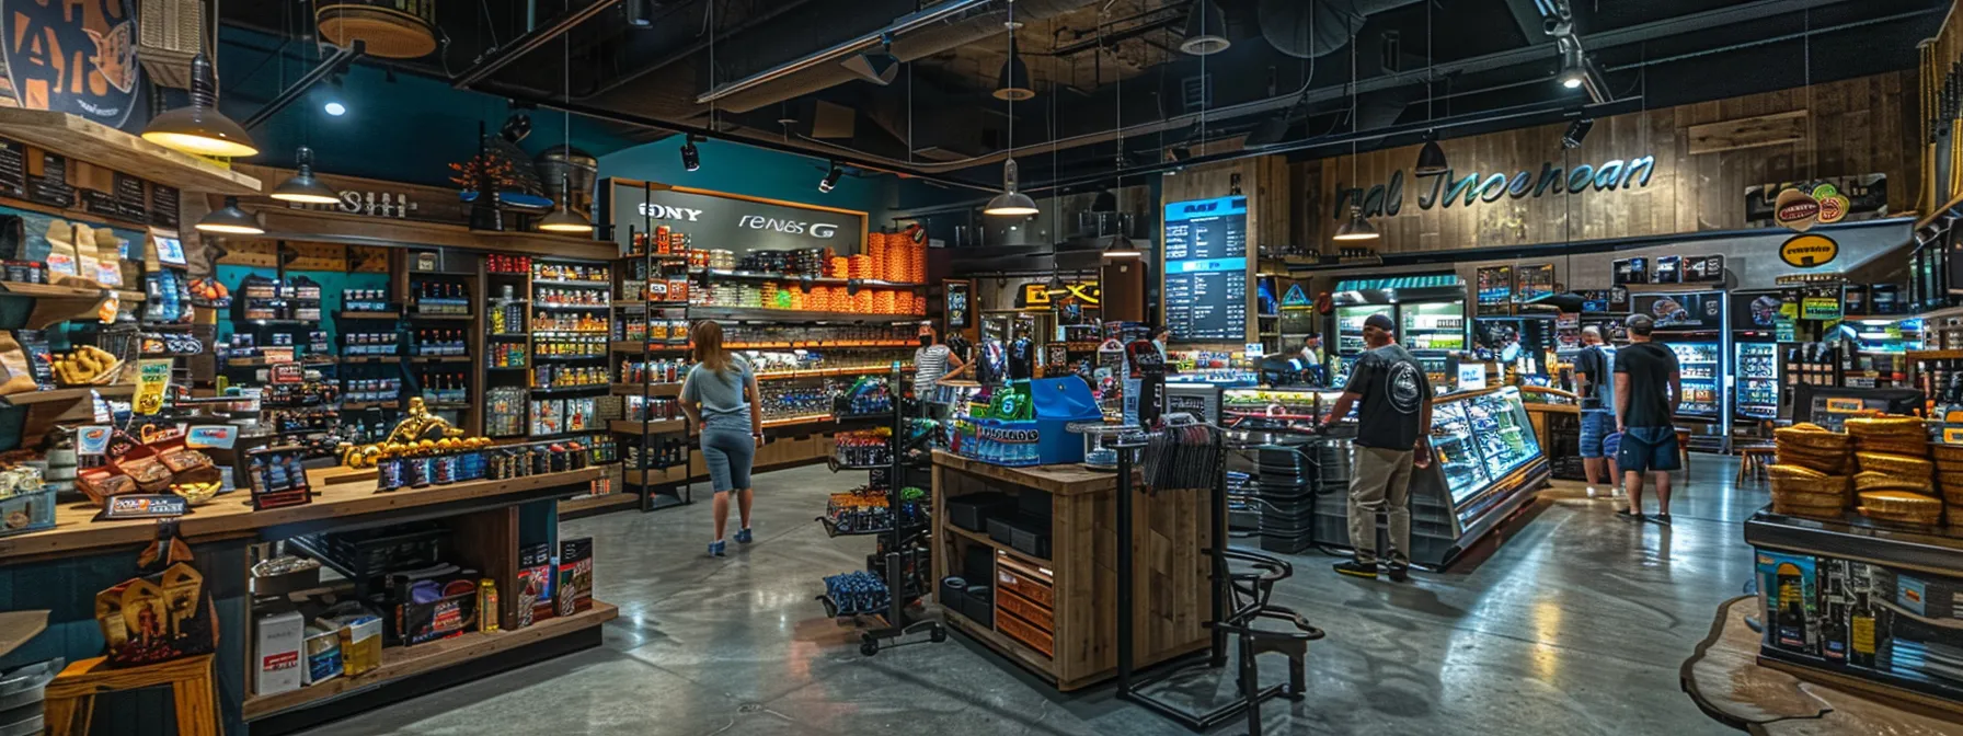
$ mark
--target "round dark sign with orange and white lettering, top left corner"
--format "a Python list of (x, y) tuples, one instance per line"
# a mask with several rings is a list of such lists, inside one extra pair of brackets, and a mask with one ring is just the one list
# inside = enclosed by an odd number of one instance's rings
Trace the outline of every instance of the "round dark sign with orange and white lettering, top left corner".
[(122, 128), (135, 108), (135, 2), (0, 0), (6, 77), (22, 108)]

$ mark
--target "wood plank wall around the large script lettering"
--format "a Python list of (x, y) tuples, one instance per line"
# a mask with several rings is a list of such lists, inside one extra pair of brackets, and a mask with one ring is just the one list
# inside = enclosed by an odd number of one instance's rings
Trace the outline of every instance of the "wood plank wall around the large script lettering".
[[(1329, 243), (1339, 224), (1333, 214), (1341, 190), (1356, 181), (1388, 183), (1396, 171), (1406, 173), (1404, 206), (1398, 216), (1372, 220), (1384, 232), (1376, 245), (1384, 253), (1745, 228), (1747, 186), (1808, 177), (1886, 173), (1888, 208), (1906, 212), (1914, 208), (1922, 169), (1914, 84), (1914, 73), (1900, 71), (1814, 84), (1810, 90), (1790, 88), (1600, 118), (1578, 149), (1561, 145), (1566, 124), (1441, 141), (1457, 177), (1472, 171), (1482, 177), (1529, 171), (1537, 177), (1543, 161), (1572, 171), (1582, 163), (1594, 167), (1610, 159), (1655, 155), (1651, 183), (1639, 188), (1502, 196), (1472, 206), (1460, 200), (1451, 208), (1435, 204), (1423, 210), (1417, 198), (1431, 181), (1409, 173), (1417, 161), (1417, 145), (1370, 151), (1354, 161), (1351, 157), (1300, 161), (1290, 165), (1290, 175), (1272, 177), (1292, 186), (1292, 200), (1301, 206), (1290, 218), (1288, 234), (1268, 237), (1309, 247)], [(1806, 114), (1806, 124), (1812, 128), (1808, 139), (1690, 153), (1690, 130), (1696, 126), (1792, 112)], [(1190, 198), (1174, 196), (1172, 179), (1166, 184), (1166, 200)], [(1203, 179), (1194, 177), (1194, 183), (1199, 184)], [(1447, 183), (1441, 190), (1449, 186)]]

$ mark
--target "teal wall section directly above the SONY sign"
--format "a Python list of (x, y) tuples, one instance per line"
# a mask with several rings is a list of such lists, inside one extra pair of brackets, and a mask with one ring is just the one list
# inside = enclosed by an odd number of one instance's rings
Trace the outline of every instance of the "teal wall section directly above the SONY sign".
[(893, 184), (891, 175), (854, 177), (846, 171), (838, 186), (819, 192), (826, 161), (777, 153), (728, 141), (695, 143), (703, 167), (681, 167), (681, 137), (665, 137), (601, 157), (601, 177), (656, 181), (663, 184), (709, 188), (730, 194), (766, 196), (773, 200), (824, 204), (872, 214), (872, 228), (889, 224)]

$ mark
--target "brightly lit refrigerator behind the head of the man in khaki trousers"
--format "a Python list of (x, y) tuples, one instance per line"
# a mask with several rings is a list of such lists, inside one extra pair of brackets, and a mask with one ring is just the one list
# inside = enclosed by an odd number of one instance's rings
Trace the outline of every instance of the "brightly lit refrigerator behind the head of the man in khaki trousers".
[(1331, 298), (1337, 312), (1337, 349), (1329, 357), (1329, 385), (1349, 383), (1364, 351), (1362, 320), (1384, 314), (1398, 326), (1398, 342), (1425, 367), (1433, 391), (1451, 391), (1451, 353), (1466, 349), (1466, 285), (1457, 275), (1347, 279)]

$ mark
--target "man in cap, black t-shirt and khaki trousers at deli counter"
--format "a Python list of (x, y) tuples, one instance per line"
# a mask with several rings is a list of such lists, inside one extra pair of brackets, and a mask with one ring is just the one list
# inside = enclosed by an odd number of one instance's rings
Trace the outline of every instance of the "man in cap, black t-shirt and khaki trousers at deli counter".
[(1384, 314), (1362, 322), (1368, 347), (1356, 357), (1343, 396), (1325, 424), (1356, 410), (1351, 442), (1349, 532), (1356, 559), (1337, 573), (1376, 577), (1376, 514), (1390, 516), (1390, 579), (1404, 583), (1411, 565), (1411, 469), (1431, 465), (1431, 381)]

